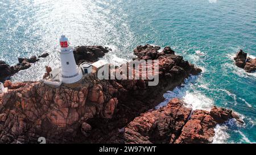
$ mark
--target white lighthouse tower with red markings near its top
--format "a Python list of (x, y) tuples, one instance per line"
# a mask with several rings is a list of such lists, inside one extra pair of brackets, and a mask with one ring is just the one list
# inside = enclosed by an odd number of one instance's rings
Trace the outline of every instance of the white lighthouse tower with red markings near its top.
[(60, 37), (60, 78), (63, 83), (75, 83), (82, 78), (82, 70), (76, 65), (73, 48), (69, 47), (68, 38)]

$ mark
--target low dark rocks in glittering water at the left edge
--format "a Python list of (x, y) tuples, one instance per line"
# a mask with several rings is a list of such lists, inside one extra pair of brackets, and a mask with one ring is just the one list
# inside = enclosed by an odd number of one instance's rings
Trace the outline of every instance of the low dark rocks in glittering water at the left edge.
[[(44, 53), (43, 55), (39, 57), (47, 57), (48, 53)], [(0, 81), (5, 81), (6, 78), (9, 78), (10, 76), (13, 76), (15, 73), (18, 73), (20, 70), (28, 69), (30, 68), (32, 63), (35, 63), (38, 61), (39, 58), (36, 58), (36, 56), (32, 56), (30, 58), (18, 58), (19, 63), (10, 66), (6, 64), (5, 61), (0, 61)]]

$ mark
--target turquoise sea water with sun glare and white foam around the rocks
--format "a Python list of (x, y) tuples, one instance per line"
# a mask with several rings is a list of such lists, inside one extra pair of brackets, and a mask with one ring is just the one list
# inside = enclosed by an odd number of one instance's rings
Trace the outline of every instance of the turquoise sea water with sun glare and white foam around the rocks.
[(73, 45), (108, 45), (113, 52), (106, 57), (129, 59), (139, 44), (170, 45), (204, 72), (164, 97), (183, 98), (193, 108), (232, 108), (245, 125), (230, 120), (217, 126), (214, 143), (256, 143), (256, 73), (244, 72), (232, 60), (240, 48), (256, 56), (255, 3), (0, 0), (0, 59), (15, 64), (18, 56), (49, 52), (12, 78), (26, 81), (42, 78), (44, 65), (60, 65), (61, 33)]

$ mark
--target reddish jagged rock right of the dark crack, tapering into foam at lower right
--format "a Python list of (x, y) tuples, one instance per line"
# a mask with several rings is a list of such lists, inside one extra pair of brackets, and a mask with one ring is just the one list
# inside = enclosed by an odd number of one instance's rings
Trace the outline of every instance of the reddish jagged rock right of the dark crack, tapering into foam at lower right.
[(214, 127), (224, 123), (229, 119), (239, 117), (232, 110), (214, 106), (210, 112), (205, 110), (195, 110), (191, 118), (184, 125), (179, 138), (175, 143), (211, 143), (214, 136)]

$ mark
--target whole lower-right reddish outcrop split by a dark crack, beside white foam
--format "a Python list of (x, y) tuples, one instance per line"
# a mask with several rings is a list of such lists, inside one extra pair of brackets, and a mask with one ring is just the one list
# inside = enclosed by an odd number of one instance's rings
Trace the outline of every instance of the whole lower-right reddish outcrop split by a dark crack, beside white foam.
[(125, 128), (125, 143), (210, 143), (214, 127), (231, 118), (237, 118), (232, 110), (213, 107), (210, 112), (192, 111), (175, 98), (130, 122)]

